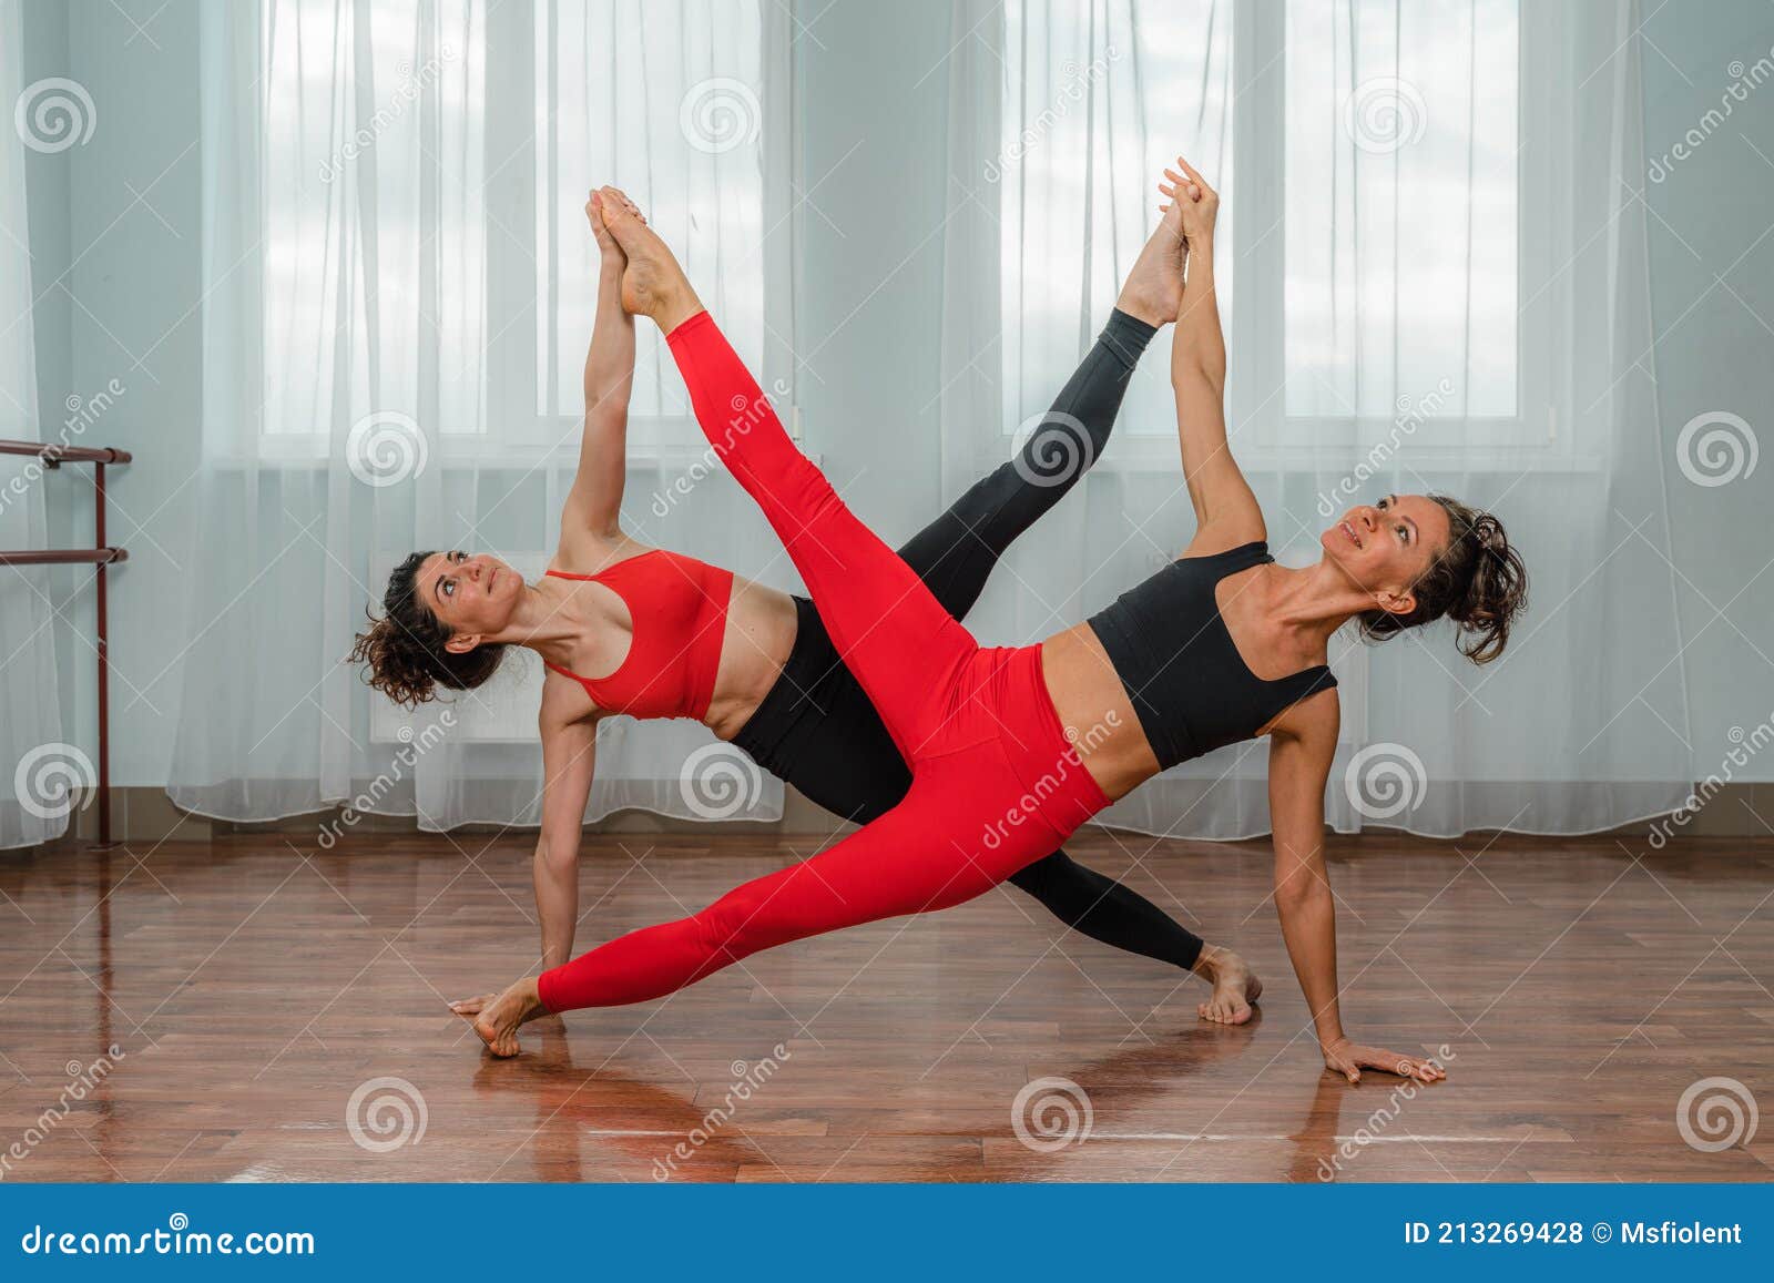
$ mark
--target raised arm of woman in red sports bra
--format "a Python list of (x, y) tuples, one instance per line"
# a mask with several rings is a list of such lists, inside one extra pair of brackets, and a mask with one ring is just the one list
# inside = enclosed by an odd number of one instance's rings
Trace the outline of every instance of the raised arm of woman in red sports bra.
[(628, 259), (603, 225), (598, 193), (585, 204), (598, 238), (598, 314), (585, 351), (585, 431), (578, 447), (578, 474), (561, 513), (562, 538), (591, 531), (614, 539), (621, 534), (623, 481), (628, 472), (628, 396), (635, 376), (635, 318), (623, 311), (623, 268)]

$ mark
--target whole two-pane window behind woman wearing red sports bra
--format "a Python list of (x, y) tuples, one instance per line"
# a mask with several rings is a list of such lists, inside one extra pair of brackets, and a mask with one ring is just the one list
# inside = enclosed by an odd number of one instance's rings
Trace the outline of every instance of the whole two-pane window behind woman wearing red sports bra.
[[(761, 0), (261, 0), (263, 453), (318, 456), (390, 408), (474, 458), (577, 451), (600, 183), (761, 366), (788, 307), (763, 165), (782, 32)], [(640, 327), (630, 444), (687, 413)]]

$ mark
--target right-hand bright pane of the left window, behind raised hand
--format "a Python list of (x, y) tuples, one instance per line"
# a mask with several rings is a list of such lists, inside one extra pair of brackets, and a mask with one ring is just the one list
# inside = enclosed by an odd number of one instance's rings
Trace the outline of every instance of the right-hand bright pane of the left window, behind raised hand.
[[(534, 406), (577, 421), (598, 252), (580, 208), (610, 181), (642, 202), (754, 369), (765, 325), (763, 30), (757, 4), (534, 5)], [(591, 176), (591, 183), (587, 183)], [(711, 243), (726, 238), (726, 245)], [(701, 268), (701, 270), (699, 270)], [(663, 364), (662, 364), (663, 362)], [(669, 412), (671, 357), (642, 327), (630, 437)], [(639, 429), (639, 431), (637, 431)]]

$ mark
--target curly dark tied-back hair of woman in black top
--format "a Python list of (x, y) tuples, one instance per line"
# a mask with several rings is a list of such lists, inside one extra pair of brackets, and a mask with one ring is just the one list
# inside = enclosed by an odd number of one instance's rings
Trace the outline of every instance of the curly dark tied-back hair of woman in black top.
[(1527, 605), (1527, 563), (1492, 513), (1448, 495), (1430, 499), (1448, 513), (1451, 529), (1448, 545), (1410, 586), (1416, 610), (1366, 610), (1359, 616), (1361, 632), (1384, 641), (1448, 616), (1460, 630), (1460, 653), (1474, 664), (1490, 664), (1508, 646), (1510, 625)]

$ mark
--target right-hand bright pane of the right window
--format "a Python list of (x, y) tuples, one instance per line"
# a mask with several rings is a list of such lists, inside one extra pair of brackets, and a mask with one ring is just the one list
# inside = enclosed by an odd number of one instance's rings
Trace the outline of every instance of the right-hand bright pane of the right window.
[(1517, 410), (1515, 0), (1286, 11), (1286, 406)]

